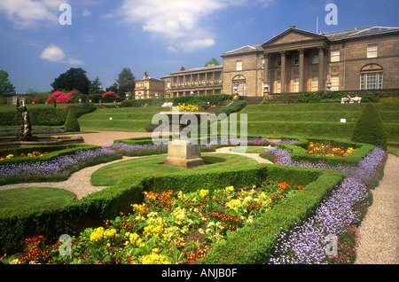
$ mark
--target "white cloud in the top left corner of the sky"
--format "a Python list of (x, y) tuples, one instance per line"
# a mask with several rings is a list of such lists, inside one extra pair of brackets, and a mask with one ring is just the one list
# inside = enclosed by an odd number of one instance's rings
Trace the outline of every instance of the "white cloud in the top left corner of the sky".
[(39, 22), (56, 24), (59, 19), (59, 5), (65, 0), (1, 0), (0, 12), (4, 12), (14, 27), (37, 27)]

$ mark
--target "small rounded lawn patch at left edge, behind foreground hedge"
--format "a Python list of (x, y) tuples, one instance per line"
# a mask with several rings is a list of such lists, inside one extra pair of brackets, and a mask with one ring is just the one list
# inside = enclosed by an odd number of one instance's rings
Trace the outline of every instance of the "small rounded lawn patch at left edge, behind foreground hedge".
[(0, 191), (0, 211), (62, 204), (75, 200), (73, 192), (63, 189), (32, 187)]

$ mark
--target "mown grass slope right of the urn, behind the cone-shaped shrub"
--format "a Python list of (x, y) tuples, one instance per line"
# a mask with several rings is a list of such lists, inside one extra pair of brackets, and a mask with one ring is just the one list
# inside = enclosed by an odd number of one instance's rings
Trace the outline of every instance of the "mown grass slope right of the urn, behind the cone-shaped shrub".
[[(270, 104), (246, 106), (248, 135), (349, 139), (365, 104)], [(388, 141), (399, 140), (399, 103), (375, 104)], [(346, 119), (341, 123), (340, 119)]]

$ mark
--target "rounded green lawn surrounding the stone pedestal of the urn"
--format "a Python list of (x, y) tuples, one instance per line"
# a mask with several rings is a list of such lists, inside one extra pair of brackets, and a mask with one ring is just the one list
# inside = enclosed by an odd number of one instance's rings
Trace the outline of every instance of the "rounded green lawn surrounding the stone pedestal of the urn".
[(240, 168), (245, 165), (257, 163), (252, 159), (236, 154), (202, 153), (201, 156), (207, 164), (197, 168), (177, 168), (173, 166), (166, 166), (163, 164), (166, 155), (150, 156), (129, 161), (119, 161), (106, 167), (99, 168), (91, 176), (91, 184), (96, 186), (110, 186), (116, 184), (123, 176), (128, 175), (160, 176), (187, 171), (188, 169), (190, 171), (200, 171), (226, 167)]

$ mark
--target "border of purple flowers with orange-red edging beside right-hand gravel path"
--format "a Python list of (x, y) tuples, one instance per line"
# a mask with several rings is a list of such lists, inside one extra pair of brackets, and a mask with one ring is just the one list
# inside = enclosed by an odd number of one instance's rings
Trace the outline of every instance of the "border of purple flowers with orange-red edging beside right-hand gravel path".
[[(287, 150), (275, 147), (269, 151), (276, 156), (275, 161), (279, 164), (336, 169), (347, 173), (348, 177), (325, 199), (314, 215), (277, 235), (278, 244), (268, 263), (354, 263), (359, 238), (357, 226), (372, 201), (367, 186), (378, 185), (387, 152), (375, 147), (353, 167), (292, 161)], [(332, 238), (336, 239), (337, 252), (327, 255), (326, 246), (332, 243), (329, 241)]]

